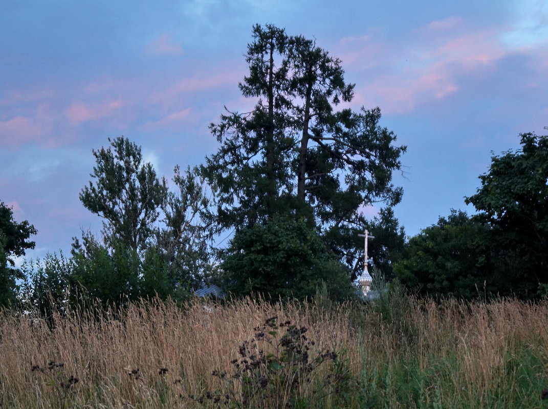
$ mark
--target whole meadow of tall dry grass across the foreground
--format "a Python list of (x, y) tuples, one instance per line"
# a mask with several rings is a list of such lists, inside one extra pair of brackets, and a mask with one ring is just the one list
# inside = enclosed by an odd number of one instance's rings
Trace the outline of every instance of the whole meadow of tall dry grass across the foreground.
[(0, 408), (544, 408), (547, 354), (546, 302), (6, 309)]

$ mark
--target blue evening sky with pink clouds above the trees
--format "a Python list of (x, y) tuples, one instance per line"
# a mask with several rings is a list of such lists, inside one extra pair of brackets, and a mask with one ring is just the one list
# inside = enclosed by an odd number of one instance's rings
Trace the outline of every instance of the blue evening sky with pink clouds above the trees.
[(0, 201), (67, 254), (101, 219), (78, 194), (93, 149), (125, 136), (170, 179), (219, 144), (208, 125), (253, 102), (238, 82), (254, 24), (316, 39), (407, 145), (394, 209), (408, 236), (473, 208), (493, 155), (548, 131), (544, 0), (2, 0)]

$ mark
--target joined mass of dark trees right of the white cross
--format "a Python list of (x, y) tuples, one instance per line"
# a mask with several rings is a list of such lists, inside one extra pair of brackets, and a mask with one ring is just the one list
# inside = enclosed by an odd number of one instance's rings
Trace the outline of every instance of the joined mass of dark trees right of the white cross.
[(548, 136), (521, 135), (521, 149), (491, 158), (481, 187), (465, 202), (478, 213), (452, 211), (409, 239), (397, 277), (429, 296), (548, 294)]

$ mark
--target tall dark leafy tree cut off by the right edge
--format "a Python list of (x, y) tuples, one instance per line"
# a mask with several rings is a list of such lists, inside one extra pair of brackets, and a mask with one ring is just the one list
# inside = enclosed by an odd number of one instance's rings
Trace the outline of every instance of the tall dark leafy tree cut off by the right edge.
[(492, 227), (503, 294), (534, 297), (548, 283), (548, 136), (521, 135), (521, 149), (493, 156), (482, 186), (466, 198)]

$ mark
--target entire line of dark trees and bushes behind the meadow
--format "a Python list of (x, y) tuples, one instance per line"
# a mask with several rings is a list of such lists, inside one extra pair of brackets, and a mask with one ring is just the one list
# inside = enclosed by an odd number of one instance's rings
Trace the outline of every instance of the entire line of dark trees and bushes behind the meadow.
[[(341, 107), (353, 98), (341, 61), (315, 41), (273, 25), (252, 30), (249, 73), (239, 89), (250, 112), (228, 110), (210, 124), (219, 149), (171, 182), (124, 137), (93, 150), (92, 180), (79, 198), (103, 220), (99, 236), (73, 238), (71, 255), (48, 254), (15, 268), (36, 229), (0, 205), (0, 303), (49, 299), (105, 304), (158, 295), (184, 299), (204, 282), (236, 296), (273, 299), (356, 296), (363, 270), (359, 232), (377, 276), (416, 294), (538, 297), (546, 293), (548, 137), (493, 156), (466, 202), (406, 240), (392, 183), (406, 147), (380, 126), (380, 109)], [(381, 203), (368, 219), (363, 207)], [(379, 206), (379, 205), (377, 205)], [(230, 235), (214, 247), (218, 235)]]

